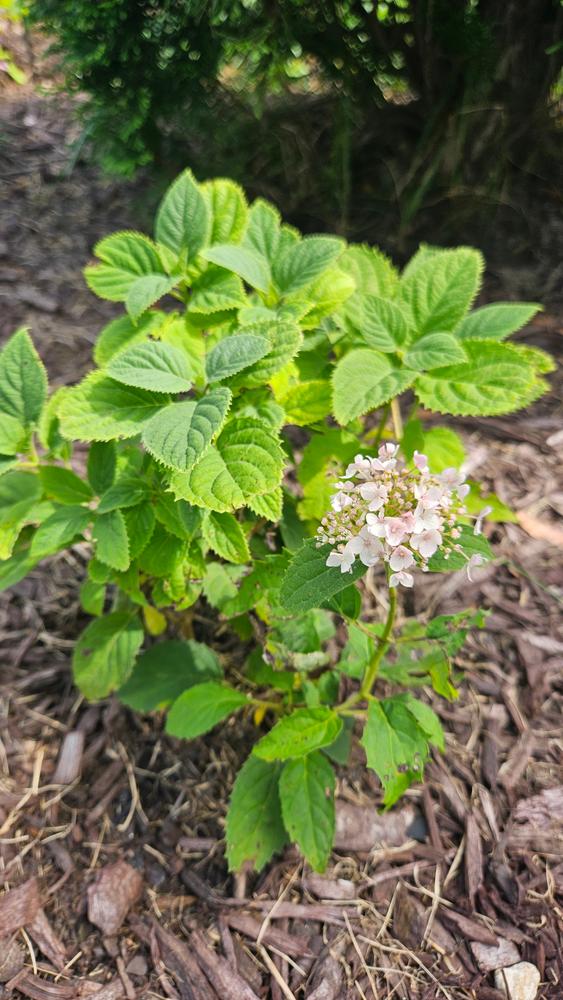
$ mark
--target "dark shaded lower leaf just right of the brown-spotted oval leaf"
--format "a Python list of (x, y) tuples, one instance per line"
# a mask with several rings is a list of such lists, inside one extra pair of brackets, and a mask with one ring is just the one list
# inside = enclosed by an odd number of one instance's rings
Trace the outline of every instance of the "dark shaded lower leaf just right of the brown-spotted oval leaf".
[(118, 691), (124, 705), (153, 712), (202, 681), (220, 679), (221, 665), (209, 646), (193, 639), (169, 639), (145, 650)]

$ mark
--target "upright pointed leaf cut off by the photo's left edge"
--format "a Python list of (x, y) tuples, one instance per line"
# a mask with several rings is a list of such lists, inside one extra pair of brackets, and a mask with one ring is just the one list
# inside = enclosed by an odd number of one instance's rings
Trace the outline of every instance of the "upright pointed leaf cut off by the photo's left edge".
[(47, 398), (47, 376), (27, 330), (18, 330), (0, 351), (0, 415), (24, 426), (39, 420)]

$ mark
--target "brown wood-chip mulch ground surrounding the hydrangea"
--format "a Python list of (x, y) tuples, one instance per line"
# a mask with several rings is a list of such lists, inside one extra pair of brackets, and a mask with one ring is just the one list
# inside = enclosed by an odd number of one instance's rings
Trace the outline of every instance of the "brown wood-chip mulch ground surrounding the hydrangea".
[[(54, 98), (3, 103), (0, 340), (29, 325), (55, 382), (88, 367), (113, 315), (80, 277), (91, 246), (146, 219), (143, 180), (72, 167), (73, 129)], [(521, 294), (509, 273), (495, 297)], [(526, 338), (557, 353), (550, 302)], [(500, 1000), (494, 970), (519, 959), (539, 970), (539, 997), (563, 996), (560, 388), (463, 433), (471, 474), (520, 523), (492, 530), (498, 560), (474, 583), (425, 580), (414, 610), (492, 613), (458, 661), (460, 701), (435, 706), (448, 746), (426, 786), (378, 816), (358, 759), (322, 878), (291, 850), (260, 876), (227, 874), (226, 803), (252, 732), (181, 744), (77, 695), (80, 551), (1, 596), (0, 996)]]

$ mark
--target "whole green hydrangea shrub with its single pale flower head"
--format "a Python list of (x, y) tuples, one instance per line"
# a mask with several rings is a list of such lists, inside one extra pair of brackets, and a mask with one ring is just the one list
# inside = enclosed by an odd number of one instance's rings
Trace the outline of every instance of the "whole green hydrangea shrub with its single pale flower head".
[[(87, 542), (80, 690), (164, 710), (184, 739), (253, 716), (229, 865), (260, 868), (289, 839), (323, 870), (334, 765), (359, 738), (385, 806), (421, 780), (444, 742), (426, 695), (456, 698), (451, 657), (483, 622), (471, 609), (398, 623), (399, 588), (486, 562), (484, 513), (513, 517), (465, 482), (460, 438), (418, 407), (537, 399), (551, 359), (507, 338), (540, 307), (472, 309), (476, 250), (424, 246), (400, 274), (189, 171), (154, 237), (115, 233), (94, 254), (88, 285), (124, 306), (94, 370), (49, 393), (27, 331), (0, 353), (0, 586)], [(366, 573), (382, 622), (362, 619)], [(242, 669), (174, 637), (202, 601), (239, 637)]]

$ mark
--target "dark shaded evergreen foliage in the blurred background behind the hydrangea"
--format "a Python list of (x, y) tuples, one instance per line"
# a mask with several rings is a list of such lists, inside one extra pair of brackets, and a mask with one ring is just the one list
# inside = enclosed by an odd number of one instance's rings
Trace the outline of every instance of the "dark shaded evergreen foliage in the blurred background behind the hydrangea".
[(25, 18), (110, 172), (229, 175), (305, 230), (399, 254), (429, 231), (480, 244), (498, 212), (510, 228), (557, 197), (562, 0), (28, 0)]

